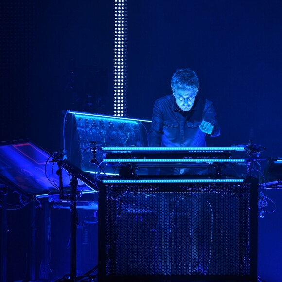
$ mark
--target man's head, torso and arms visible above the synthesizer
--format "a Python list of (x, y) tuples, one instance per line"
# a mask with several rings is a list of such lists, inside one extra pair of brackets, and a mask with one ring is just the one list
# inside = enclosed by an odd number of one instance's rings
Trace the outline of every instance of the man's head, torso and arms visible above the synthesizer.
[(206, 136), (219, 136), (220, 127), (212, 102), (197, 95), (196, 73), (176, 70), (171, 87), (172, 95), (155, 102), (149, 147), (205, 147)]

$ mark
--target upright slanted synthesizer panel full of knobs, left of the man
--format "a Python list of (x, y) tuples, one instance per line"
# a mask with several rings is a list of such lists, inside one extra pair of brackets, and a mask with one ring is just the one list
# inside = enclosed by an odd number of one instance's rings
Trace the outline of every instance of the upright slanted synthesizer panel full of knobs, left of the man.
[[(66, 159), (83, 171), (96, 170), (91, 162), (95, 148), (147, 145), (150, 121), (74, 111), (63, 114), (62, 143)], [(99, 163), (102, 161), (100, 156), (97, 159)]]

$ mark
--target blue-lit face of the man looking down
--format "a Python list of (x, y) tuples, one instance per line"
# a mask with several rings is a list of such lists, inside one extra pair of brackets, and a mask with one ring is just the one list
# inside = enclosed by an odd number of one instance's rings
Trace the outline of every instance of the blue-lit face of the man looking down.
[(194, 88), (177, 89), (173, 95), (179, 108), (187, 112), (193, 107), (197, 92)]

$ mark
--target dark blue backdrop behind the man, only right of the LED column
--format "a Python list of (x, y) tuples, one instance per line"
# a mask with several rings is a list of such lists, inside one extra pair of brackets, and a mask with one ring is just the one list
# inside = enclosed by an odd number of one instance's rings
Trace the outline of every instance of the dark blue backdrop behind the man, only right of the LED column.
[(266, 0), (129, 1), (128, 115), (149, 119), (173, 72), (190, 67), (222, 126), (210, 145), (251, 139), (281, 154), (281, 11)]

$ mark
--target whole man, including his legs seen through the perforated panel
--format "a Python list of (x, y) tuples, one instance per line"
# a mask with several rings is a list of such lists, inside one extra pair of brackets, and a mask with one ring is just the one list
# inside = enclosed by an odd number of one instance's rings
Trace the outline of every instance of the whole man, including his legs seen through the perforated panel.
[[(220, 127), (212, 102), (197, 95), (199, 81), (196, 73), (190, 69), (176, 70), (171, 79), (171, 88), (172, 95), (159, 98), (155, 102), (148, 135), (149, 146), (205, 147), (206, 136), (219, 136)], [(173, 162), (168, 163), (168, 166), (171, 167), (161, 168), (157, 174), (206, 172), (201, 166), (176, 168)], [(162, 242), (159, 264), (168, 264), (167, 268), (162, 267), (162, 272), (206, 274), (210, 247), (204, 246), (210, 245), (212, 231), (207, 238), (203, 237), (201, 234), (204, 233), (204, 225), (200, 222), (202, 218), (212, 222), (210, 203), (200, 192), (192, 193), (185, 189), (181, 193), (170, 191), (156, 196), (159, 202), (165, 203), (161, 208), (162, 212), (159, 212), (158, 220), (159, 240)], [(185, 219), (181, 219), (182, 217)], [(167, 218), (170, 218), (170, 221), (167, 221)], [(182, 237), (179, 234), (182, 234)], [(179, 242), (181, 247), (186, 249), (182, 255), (177, 254)], [(167, 246), (171, 246), (170, 251)]]

